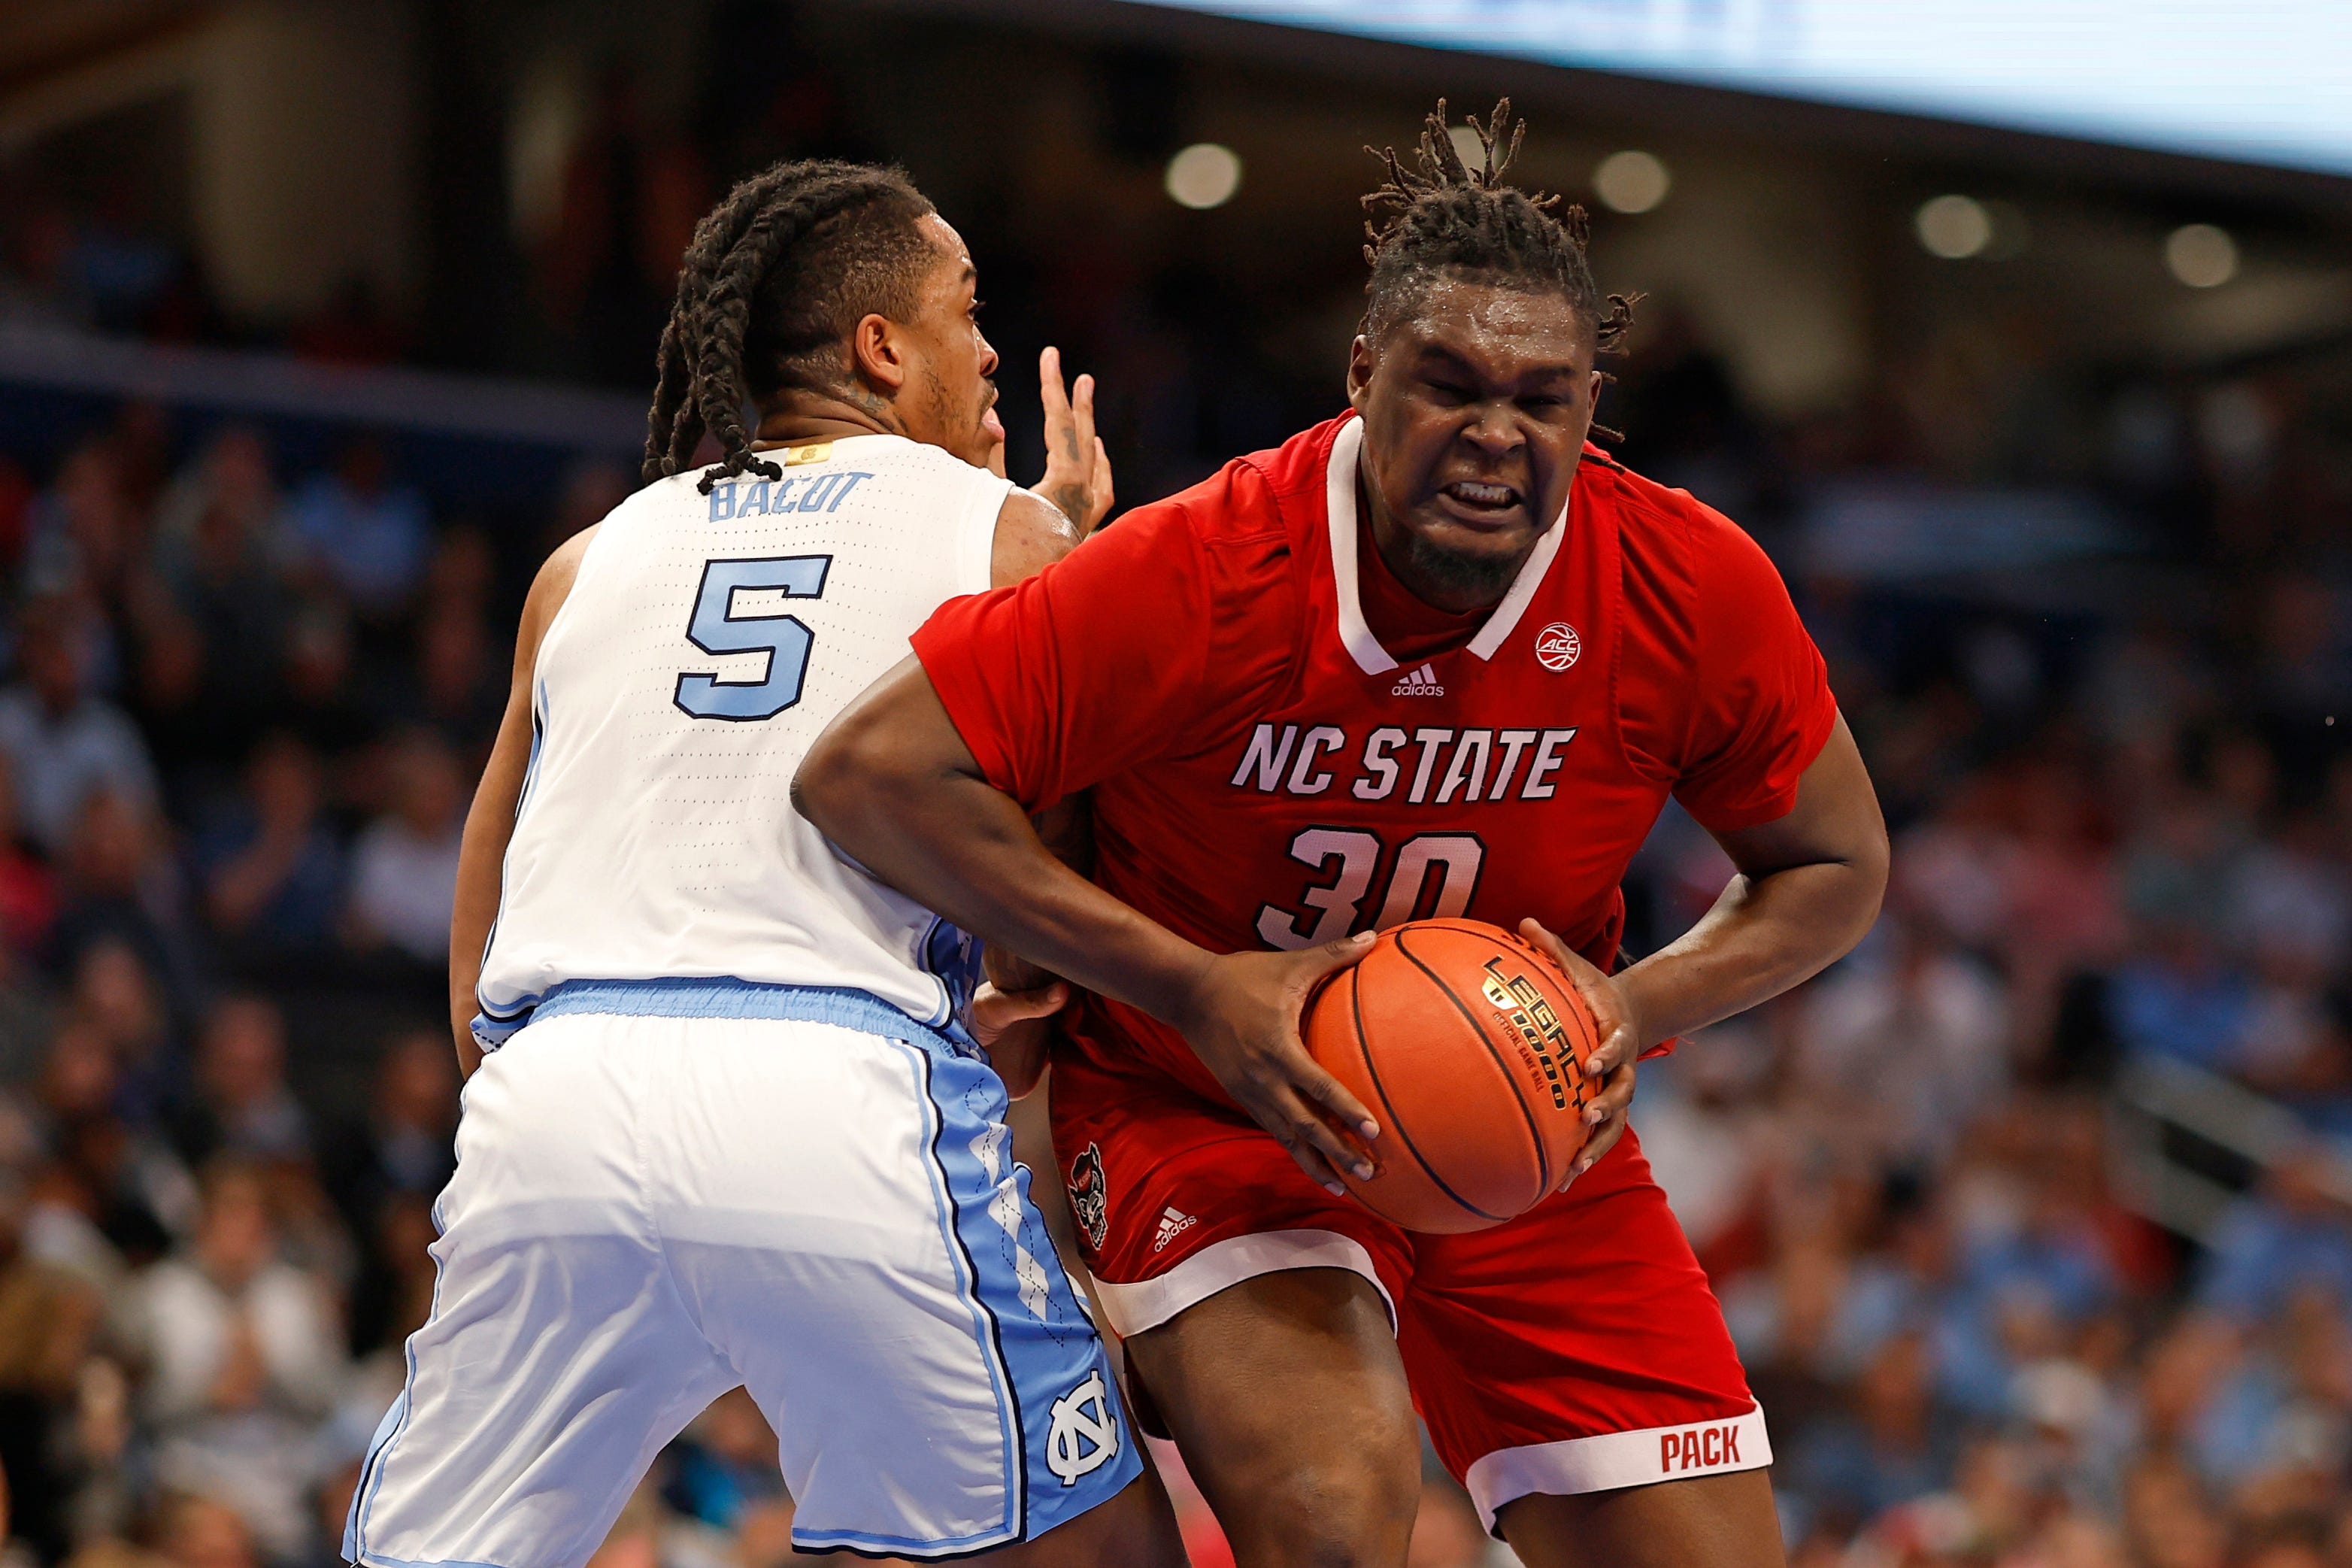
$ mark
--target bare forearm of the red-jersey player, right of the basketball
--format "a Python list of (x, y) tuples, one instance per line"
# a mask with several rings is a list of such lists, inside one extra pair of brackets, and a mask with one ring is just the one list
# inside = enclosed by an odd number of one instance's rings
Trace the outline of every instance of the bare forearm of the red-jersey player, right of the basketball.
[(1696, 926), (1618, 976), (1642, 1048), (1743, 1013), (1835, 964), (1863, 940), (1882, 886), (1884, 872), (1842, 860), (1733, 877)]

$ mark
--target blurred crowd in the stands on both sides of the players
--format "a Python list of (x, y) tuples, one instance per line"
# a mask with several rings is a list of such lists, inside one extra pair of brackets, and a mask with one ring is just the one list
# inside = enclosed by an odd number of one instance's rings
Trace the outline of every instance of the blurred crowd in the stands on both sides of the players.
[[(1637, 409), (1668, 369), (1628, 367)], [(1649, 407), (1670, 433), (1686, 404)], [(1639, 440), (1679, 477), (1672, 442)], [(1722, 482), (1710, 451), (1693, 473)], [(334, 1561), (433, 1291), (447, 907), (515, 581), (626, 484), (581, 468), (543, 536), (501, 548), (437, 517), (381, 435), (282, 473), (263, 430), (129, 404), (14, 487), (14, 1552)], [(2237, 574), (2241, 621), (2058, 635), (1792, 576), (1896, 886), (1851, 959), (1646, 1070), (1635, 1121), (1766, 1403), (1799, 1561), (2352, 1563), (2352, 759), (2326, 712), (2352, 682), (2326, 576)], [(1668, 940), (1726, 872), (1670, 816), (1632, 940)], [(2119, 1131), (2147, 1063), (2274, 1112), (2249, 1147), (2176, 1150), (2220, 1194), (2197, 1222)], [(788, 1521), (736, 1394), (656, 1467), (607, 1568), (757, 1568)], [(1486, 1554), (1442, 1476), (1418, 1552)]]

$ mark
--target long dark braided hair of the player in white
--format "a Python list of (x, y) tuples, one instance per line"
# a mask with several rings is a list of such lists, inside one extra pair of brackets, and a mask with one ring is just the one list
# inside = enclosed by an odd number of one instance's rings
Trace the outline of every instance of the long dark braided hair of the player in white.
[(677, 268), (642, 477), (691, 463), (703, 430), (720, 442), (703, 494), (746, 470), (781, 477), (753, 454), (743, 402), (842, 390), (858, 320), (915, 313), (931, 256), (917, 221), (929, 212), (898, 169), (835, 160), (781, 162), (729, 190)]

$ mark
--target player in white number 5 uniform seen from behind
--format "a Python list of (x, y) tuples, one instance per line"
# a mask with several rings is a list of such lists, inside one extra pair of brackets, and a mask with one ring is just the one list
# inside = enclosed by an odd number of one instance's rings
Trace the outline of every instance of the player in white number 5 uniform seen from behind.
[[(355, 1563), (574, 1568), (739, 1382), (802, 1552), (1183, 1561), (981, 1044), (1025, 1088), (1040, 1025), (1007, 1020), (1058, 994), (974, 1018), (971, 945), (788, 799), (934, 607), (1077, 538), (985, 468), (974, 310), (896, 172), (779, 165), (694, 235), (649, 484), (532, 585), (466, 823), (459, 1171)], [(1049, 487), (1094, 522), (1108, 463), (1044, 381)]]

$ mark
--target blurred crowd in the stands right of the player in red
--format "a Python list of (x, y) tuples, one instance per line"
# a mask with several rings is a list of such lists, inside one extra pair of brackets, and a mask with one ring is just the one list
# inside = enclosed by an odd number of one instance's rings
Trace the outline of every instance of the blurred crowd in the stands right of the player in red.
[[(1764, 494), (1724, 425), (1675, 440), (1708, 397), (1644, 409), (1693, 367), (1630, 367), (1635, 463)], [(1893, 886), (1858, 952), (1649, 1070), (1635, 1126), (1799, 1563), (2352, 1563), (2352, 470), (2291, 376), (2171, 397), (2171, 510), (2133, 515), (2187, 527), (2100, 576), (2136, 592), (1839, 581), (1783, 536)], [(2220, 397), (2265, 409), (2258, 461), (2199, 430)], [(1637, 940), (1726, 872), (1670, 816)]]

